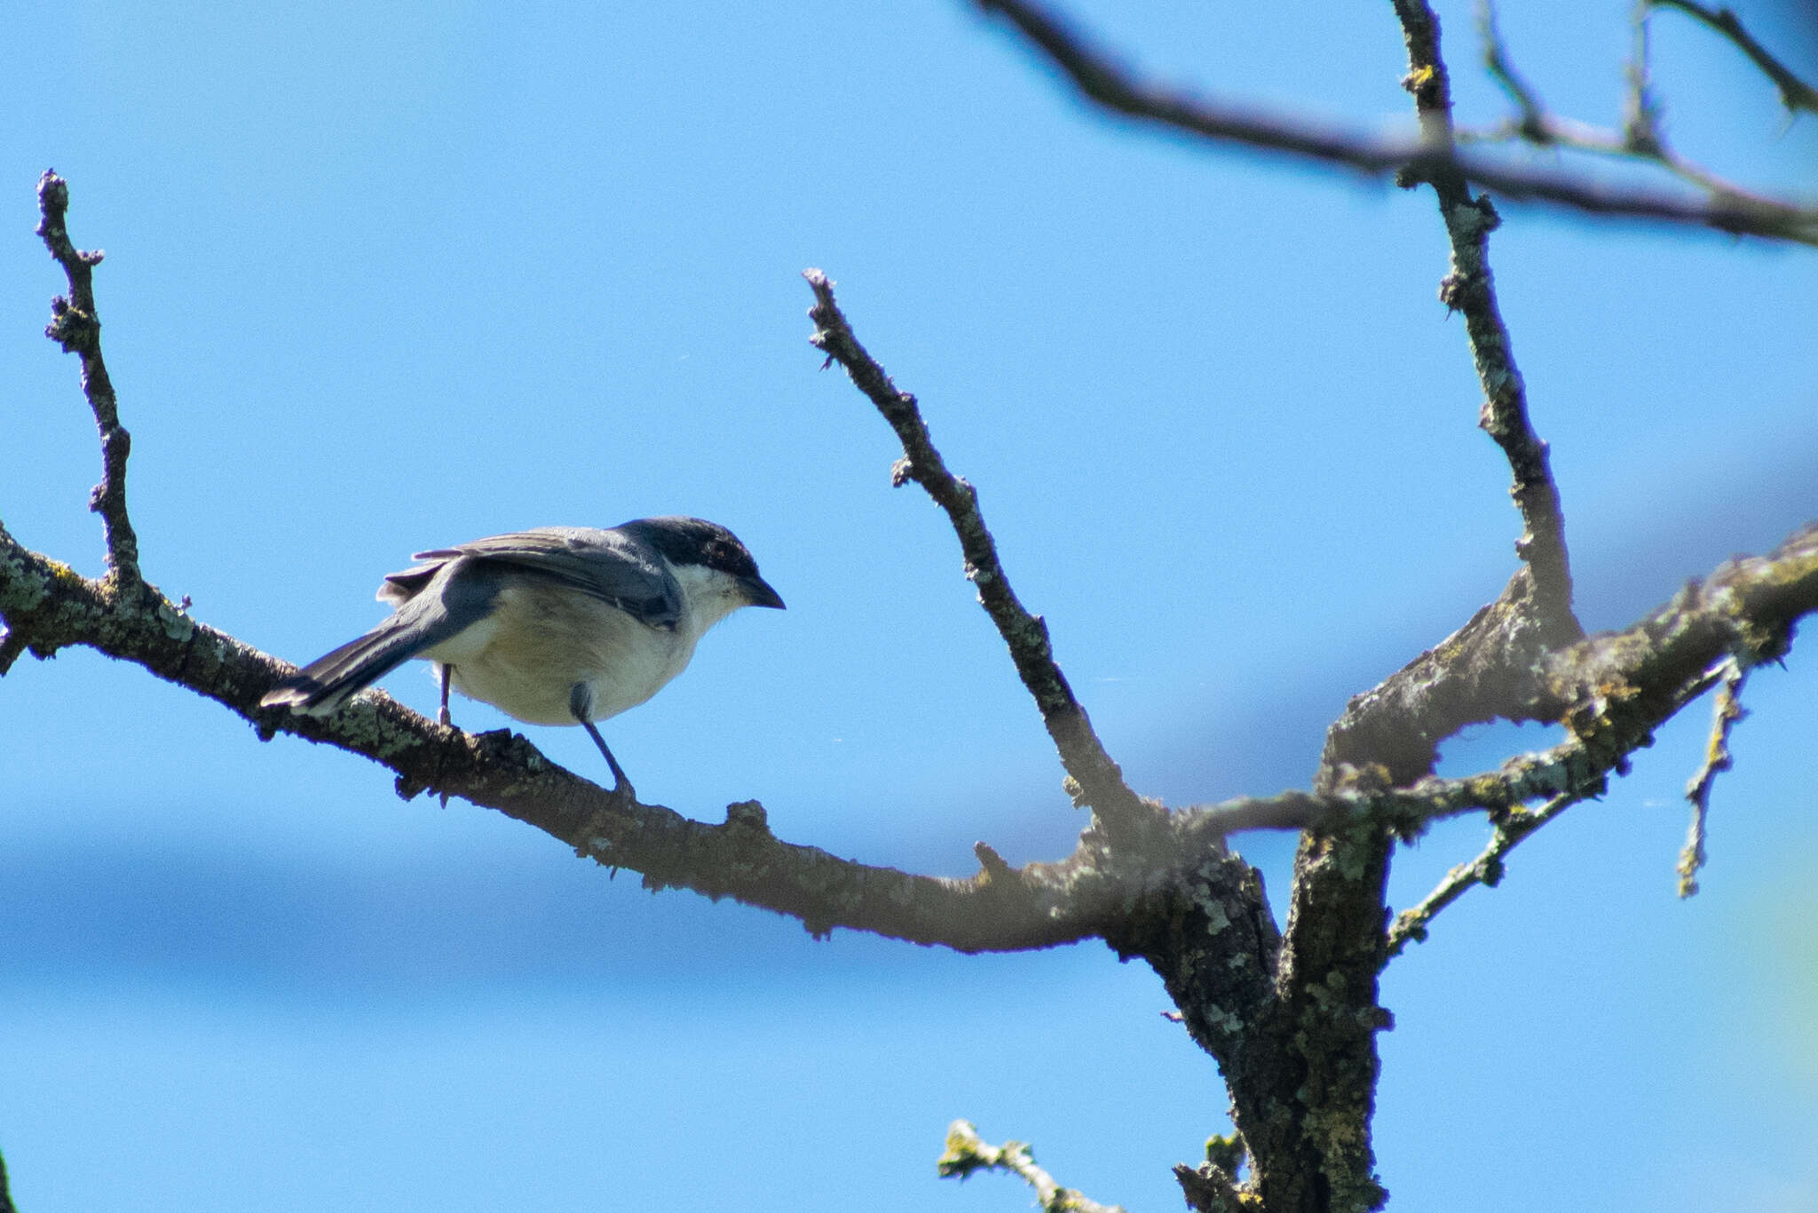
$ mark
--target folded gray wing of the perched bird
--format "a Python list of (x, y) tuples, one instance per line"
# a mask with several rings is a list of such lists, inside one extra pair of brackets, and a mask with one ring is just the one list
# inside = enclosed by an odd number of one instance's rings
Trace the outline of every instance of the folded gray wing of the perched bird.
[[(458, 547), (420, 551), (411, 558), (444, 562), (458, 556), (507, 564), (525, 573), (549, 576), (584, 595), (611, 602), (651, 627), (674, 627), (682, 618), (682, 586), (676, 584), (674, 575), (656, 553), (620, 531), (538, 527), (476, 538)], [(385, 582), (404, 589), (409, 580), (427, 582), (425, 573), (433, 576), (431, 566), (393, 573)]]

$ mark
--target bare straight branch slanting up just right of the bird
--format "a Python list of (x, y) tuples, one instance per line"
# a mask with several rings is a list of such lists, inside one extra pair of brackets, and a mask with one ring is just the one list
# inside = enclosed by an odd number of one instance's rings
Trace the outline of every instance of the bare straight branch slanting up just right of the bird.
[(902, 486), (905, 480), (914, 480), (947, 511), (953, 531), (960, 536), (960, 549), (965, 553), (965, 576), (978, 586), (980, 606), (996, 624), (1016, 673), (1034, 697), (1060, 760), (1078, 787), (1076, 802), (1091, 804), (1113, 829), (1120, 831), (1153, 820), (1154, 807), (1124, 782), (1124, 773), (1093, 731), (1085, 707), (1073, 697), (1067, 677), (1054, 662), (1047, 624), (1040, 615), (1031, 615), (1011, 589), (998, 560), (996, 540), (978, 513), (978, 491), (947, 471), (929, 438), (916, 398), (898, 391), (884, 367), (853, 336), (853, 327), (833, 298), (833, 282), (827, 275), (809, 269), (802, 276), (814, 289), (814, 307), (809, 316), (816, 329), (809, 342), (827, 355), (829, 366), (838, 362), (845, 367), (853, 384), (871, 398), (902, 440), (904, 458), (893, 471), (893, 482)]

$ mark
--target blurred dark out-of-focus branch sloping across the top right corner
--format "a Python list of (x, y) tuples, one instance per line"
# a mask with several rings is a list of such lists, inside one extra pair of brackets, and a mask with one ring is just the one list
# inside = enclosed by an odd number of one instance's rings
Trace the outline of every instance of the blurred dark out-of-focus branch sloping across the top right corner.
[[(1694, 198), (1643, 187), (1605, 185), (1574, 173), (1485, 158), (1447, 140), (1371, 136), (1240, 105), (1214, 105), (1184, 91), (1138, 82), (1040, 5), (1024, 0), (976, 0), (976, 4), (987, 13), (1004, 13), (1029, 42), (1073, 78), (1089, 100), (1140, 122), (1154, 122), (1218, 144), (1242, 144), (1351, 167), (1371, 176), (1393, 175), (1403, 184), (1458, 175), (1505, 198), (1554, 204), (1585, 215), (1713, 227), (1818, 246), (1818, 206), (1733, 196)], [(1423, 87), (1418, 73), (1411, 76), (1411, 85)]]

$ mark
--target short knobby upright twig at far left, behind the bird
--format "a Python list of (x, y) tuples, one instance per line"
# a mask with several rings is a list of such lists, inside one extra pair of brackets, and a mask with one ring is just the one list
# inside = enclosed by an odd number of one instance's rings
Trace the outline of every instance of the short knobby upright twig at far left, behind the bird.
[(102, 435), (102, 482), (89, 493), (89, 509), (102, 516), (107, 571), (122, 587), (136, 586), (142, 582), (138, 536), (125, 511), (125, 460), (133, 451), (133, 435), (120, 426), (113, 380), (107, 378), (107, 364), (102, 362), (102, 320), (95, 309), (95, 267), (104, 255), (98, 249), (78, 251), (69, 242), (69, 227), (64, 222), (69, 213), (69, 184), (56, 173), (45, 171), (38, 178), (38, 211), (44, 216), (38, 235), (69, 278), (69, 295), (51, 300), (51, 324), (44, 335), (65, 353), (82, 356), (82, 395), (87, 396)]

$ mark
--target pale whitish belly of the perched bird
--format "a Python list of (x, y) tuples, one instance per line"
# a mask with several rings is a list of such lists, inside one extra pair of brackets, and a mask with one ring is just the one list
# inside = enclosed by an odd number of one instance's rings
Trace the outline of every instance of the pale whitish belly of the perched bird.
[(493, 611), (425, 649), (453, 666), (456, 691), (525, 724), (576, 724), (576, 682), (593, 691), (593, 718), (636, 707), (682, 673), (694, 655), (689, 627), (660, 629), (574, 591), (536, 580), (500, 589)]

